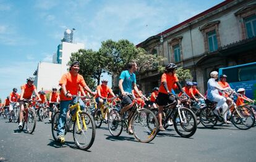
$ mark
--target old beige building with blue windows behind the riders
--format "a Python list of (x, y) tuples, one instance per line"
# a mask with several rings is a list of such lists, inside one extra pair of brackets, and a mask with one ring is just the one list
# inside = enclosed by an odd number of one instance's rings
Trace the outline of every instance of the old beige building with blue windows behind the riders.
[[(227, 0), (147, 38), (137, 47), (162, 55), (168, 62), (190, 69), (193, 81), (205, 92), (211, 71), (256, 62), (256, 1)], [(160, 85), (161, 74), (138, 76), (143, 92)]]

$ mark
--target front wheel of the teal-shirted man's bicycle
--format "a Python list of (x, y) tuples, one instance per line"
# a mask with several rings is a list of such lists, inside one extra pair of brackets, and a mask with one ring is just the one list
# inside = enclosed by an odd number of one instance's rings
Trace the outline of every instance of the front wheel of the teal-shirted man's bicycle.
[[(150, 122), (148, 122), (148, 118), (151, 119)], [(153, 140), (156, 137), (158, 128), (158, 120), (155, 113), (148, 109), (140, 109), (132, 117), (132, 131), (134, 131), (135, 139), (140, 142), (147, 143)]]

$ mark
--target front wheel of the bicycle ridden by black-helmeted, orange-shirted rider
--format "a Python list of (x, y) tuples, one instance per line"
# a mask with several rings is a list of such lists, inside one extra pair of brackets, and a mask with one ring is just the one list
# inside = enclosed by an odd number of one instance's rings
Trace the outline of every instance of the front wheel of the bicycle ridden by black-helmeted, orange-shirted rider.
[(179, 108), (179, 112), (176, 111), (173, 119), (174, 128), (181, 137), (191, 137), (197, 131), (197, 119), (193, 111), (188, 108)]

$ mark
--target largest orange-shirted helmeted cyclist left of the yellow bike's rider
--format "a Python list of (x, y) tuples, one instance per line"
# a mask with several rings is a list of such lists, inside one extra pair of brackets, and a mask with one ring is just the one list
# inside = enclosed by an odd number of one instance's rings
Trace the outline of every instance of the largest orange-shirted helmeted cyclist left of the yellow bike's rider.
[[(19, 128), (22, 128), (22, 119), (23, 119), (23, 111), (24, 111), (24, 105), (25, 105), (25, 101), (23, 99), (31, 99), (32, 93), (35, 92), (36, 96), (38, 97), (38, 100), (40, 101), (40, 96), (38, 94), (38, 92), (36, 91), (36, 87), (35, 85), (33, 85), (34, 83), (34, 78), (33, 77), (28, 77), (27, 78), (27, 84), (24, 84), (21, 89), (22, 92), (20, 94), (20, 123), (19, 123)], [(27, 111), (27, 110), (25, 110)]]

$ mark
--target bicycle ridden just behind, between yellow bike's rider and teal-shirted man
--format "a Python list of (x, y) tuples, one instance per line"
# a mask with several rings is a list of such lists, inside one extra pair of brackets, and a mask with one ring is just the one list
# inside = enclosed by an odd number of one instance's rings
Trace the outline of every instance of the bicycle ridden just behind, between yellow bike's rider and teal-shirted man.
[[(111, 98), (111, 102), (106, 101), (105, 104), (102, 105), (101, 108), (96, 107), (95, 110), (93, 110), (93, 119), (95, 121), (96, 128), (100, 128), (102, 122), (108, 123), (105, 119), (105, 116), (109, 114), (109, 111), (113, 109), (113, 99), (116, 99), (115, 97)], [(110, 99), (108, 99), (110, 100)]]

